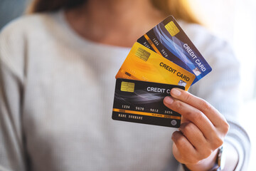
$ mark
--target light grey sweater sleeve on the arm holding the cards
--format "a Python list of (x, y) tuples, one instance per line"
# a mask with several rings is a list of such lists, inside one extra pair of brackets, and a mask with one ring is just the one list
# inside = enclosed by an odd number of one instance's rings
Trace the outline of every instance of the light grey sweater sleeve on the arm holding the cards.
[(225, 115), (230, 130), (224, 144), (232, 145), (238, 152), (239, 161), (236, 170), (245, 170), (250, 155), (250, 139), (238, 120), (238, 115), (241, 114), (239, 113), (240, 63), (228, 43), (214, 40), (214, 37), (204, 44), (203, 49), (204, 51), (201, 52), (213, 71), (191, 86), (190, 91)]

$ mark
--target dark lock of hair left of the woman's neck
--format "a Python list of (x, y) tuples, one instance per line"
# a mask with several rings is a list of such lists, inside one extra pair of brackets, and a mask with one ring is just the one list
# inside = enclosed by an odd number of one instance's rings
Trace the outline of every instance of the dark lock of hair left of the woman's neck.
[(85, 4), (87, 0), (34, 0), (28, 9), (29, 13), (57, 11), (59, 9), (73, 9)]

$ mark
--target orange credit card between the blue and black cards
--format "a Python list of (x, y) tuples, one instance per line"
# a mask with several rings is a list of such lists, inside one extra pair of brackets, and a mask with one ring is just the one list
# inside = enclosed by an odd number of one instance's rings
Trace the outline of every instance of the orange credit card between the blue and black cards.
[(134, 43), (116, 76), (116, 78), (183, 86), (185, 90), (188, 90), (195, 77), (193, 73), (140, 43)]

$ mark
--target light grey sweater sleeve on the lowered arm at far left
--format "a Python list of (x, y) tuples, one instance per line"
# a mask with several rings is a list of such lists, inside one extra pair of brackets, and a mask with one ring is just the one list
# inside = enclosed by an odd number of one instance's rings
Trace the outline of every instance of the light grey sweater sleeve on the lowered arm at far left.
[(0, 33), (0, 170), (26, 170), (22, 131), (24, 40), (16, 28)]

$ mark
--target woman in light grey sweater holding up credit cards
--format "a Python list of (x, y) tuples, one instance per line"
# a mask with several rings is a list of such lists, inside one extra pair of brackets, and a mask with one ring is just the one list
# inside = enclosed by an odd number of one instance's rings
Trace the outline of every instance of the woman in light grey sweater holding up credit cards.
[[(249, 140), (235, 128), (238, 62), (186, 1), (38, 0), (31, 10), (0, 37), (3, 170), (214, 170), (228, 123), (225, 168), (242, 168), (238, 152)], [(164, 99), (183, 115), (179, 131), (111, 120), (115, 74), (170, 11), (213, 72), (193, 95), (172, 90)]]

